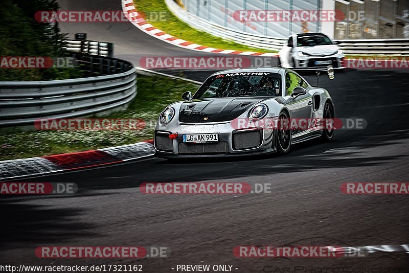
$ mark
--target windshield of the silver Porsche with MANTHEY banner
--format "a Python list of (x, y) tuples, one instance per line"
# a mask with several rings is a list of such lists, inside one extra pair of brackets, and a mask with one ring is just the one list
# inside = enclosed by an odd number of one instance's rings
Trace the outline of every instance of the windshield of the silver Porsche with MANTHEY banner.
[(210, 77), (199, 87), (193, 99), (280, 95), (280, 74), (243, 72)]

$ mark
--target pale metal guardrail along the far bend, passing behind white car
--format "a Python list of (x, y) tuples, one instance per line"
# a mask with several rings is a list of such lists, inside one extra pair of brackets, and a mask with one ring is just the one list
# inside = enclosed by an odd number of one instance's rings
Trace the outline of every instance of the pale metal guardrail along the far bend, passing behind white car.
[[(173, 0), (165, 0), (169, 10), (180, 20), (195, 29), (205, 31), (214, 36), (231, 40), (249, 47), (281, 50), (286, 38), (261, 36), (245, 33), (214, 24), (208, 20), (191, 14), (178, 6)], [(409, 39), (363, 39), (363, 40), (339, 40), (339, 47), (346, 54), (387, 54), (409, 55)]]

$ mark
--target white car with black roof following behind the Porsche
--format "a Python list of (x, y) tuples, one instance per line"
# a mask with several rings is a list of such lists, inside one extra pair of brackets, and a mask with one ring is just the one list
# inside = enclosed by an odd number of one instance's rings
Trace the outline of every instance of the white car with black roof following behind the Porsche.
[(281, 66), (285, 68), (326, 67), (345, 69), (344, 53), (322, 33), (299, 33), (289, 36), (279, 52)]

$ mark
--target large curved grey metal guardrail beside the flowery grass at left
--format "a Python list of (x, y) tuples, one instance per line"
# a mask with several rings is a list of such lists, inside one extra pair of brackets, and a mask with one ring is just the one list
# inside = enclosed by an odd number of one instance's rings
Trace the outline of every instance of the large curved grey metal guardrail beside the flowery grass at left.
[(85, 117), (124, 106), (136, 96), (137, 74), (131, 63), (89, 54), (78, 54), (76, 59), (83, 70), (98, 76), (0, 82), (0, 126), (32, 125), (38, 119)]

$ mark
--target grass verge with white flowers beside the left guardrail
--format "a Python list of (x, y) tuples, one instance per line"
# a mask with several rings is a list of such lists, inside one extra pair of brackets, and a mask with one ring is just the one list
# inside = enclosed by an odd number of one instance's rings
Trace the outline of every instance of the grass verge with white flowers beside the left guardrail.
[(184, 92), (194, 92), (196, 89), (195, 84), (183, 80), (138, 75), (138, 95), (128, 109), (98, 118), (143, 119), (147, 123), (146, 128), (109, 131), (3, 130), (0, 132), (0, 160), (86, 151), (150, 140), (161, 111), (169, 104), (181, 100)]

